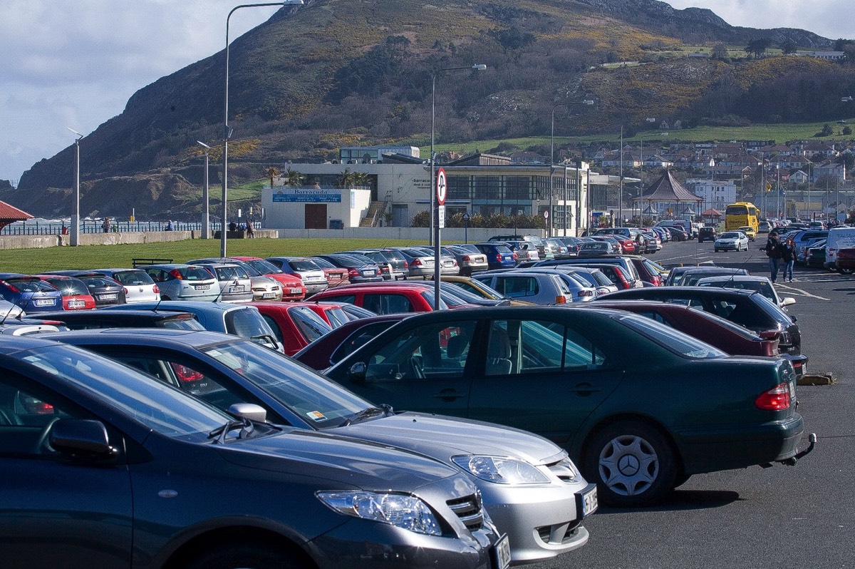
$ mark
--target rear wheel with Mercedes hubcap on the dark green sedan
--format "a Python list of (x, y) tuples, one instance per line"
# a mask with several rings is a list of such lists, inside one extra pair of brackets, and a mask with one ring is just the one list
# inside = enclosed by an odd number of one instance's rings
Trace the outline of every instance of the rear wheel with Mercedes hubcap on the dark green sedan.
[(606, 425), (587, 444), (585, 477), (599, 499), (616, 507), (660, 501), (674, 487), (674, 451), (657, 429), (639, 421)]

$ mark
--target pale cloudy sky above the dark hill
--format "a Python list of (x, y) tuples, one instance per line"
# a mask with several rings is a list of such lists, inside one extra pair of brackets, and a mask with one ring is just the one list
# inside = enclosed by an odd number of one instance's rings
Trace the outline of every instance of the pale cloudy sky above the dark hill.
[[(734, 26), (799, 27), (853, 38), (853, 0), (669, 0), (712, 9)], [(163, 75), (223, 49), (236, 0), (3, 0), (0, 3), (0, 179), (21, 174), (121, 114)], [(246, 8), (233, 40), (274, 8)], [(70, 183), (70, 181), (67, 181)], [(58, 182), (57, 185), (62, 185)]]

